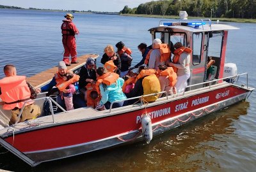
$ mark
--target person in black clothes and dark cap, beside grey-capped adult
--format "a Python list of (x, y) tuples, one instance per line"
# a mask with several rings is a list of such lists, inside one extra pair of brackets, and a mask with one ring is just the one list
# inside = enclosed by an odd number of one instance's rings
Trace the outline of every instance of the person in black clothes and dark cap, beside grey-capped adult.
[(84, 94), (84, 100), (87, 101), (86, 85), (96, 81), (96, 61), (93, 58), (88, 58), (86, 64), (79, 71), (79, 90)]

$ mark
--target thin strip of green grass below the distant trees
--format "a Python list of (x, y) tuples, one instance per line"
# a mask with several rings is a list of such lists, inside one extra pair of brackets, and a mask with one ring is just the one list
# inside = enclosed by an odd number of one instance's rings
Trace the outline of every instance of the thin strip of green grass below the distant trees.
[[(170, 19), (179, 19), (175, 15), (143, 15), (143, 14), (122, 14), (123, 16), (131, 17), (148, 17), (148, 18), (170, 18)], [(188, 17), (188, 19), (201, 19), (204, 17)], [(245, 22), (245, 23), (256, 23), (256, 19), (248, 18), (212, 18), (212, 21), (220, 20), (220, 22)]]

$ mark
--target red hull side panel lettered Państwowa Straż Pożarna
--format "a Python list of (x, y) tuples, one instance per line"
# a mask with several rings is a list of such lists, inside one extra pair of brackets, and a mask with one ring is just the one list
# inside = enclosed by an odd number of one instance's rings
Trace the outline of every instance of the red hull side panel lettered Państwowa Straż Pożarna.
[[(151, 115), (152, 123), (155, 123), (230, 97), (238, 96), (244, 92), (246, 90), (230, 86), (150, 107), (147, 108), (147, 113)], [(139, 118), (143, 113), (145, 113), (145, 109), (17, 134), (15, 135), (13, 147), (20, 150), (20, 152), (33, 152), (108, 138), (116, 134), (139, 129), (141, 127)], [(6, 138), (5, 141), (12, 145), (12, 136)]]

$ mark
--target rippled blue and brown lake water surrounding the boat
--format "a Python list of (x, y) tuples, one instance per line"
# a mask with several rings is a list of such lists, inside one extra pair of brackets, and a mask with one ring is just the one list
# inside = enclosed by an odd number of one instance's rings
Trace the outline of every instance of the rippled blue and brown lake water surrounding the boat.
[[(0, 10), (0, 68), (15, 64), (20, 75), (31, 76), (56, 66), (63, 47), (61, 12)], [(140, 61), (137, 46), (150, 43), (147, 31), (159, 18), (117, 15), (75, 14), (79, 31), (78, 55), (102, 55), (104, 47), (124, 41), (133, 50), (134, 64)], [(238, 72), (248, 72), (256, 87), (256, 24), (229, 23), (239, 31), (228, 33), (227, 62), (237, 64)], [(3, 72), (0, 73), (2, 78)], [(152, 140), (30, 168), (0, 147), (0, 169), (11, 171), (255, 171), (256, 93), (242, 103), (179, 127)], [(31, 138), (33, 139), (33, 138)], [(2, 152), (2, 153), (1, 153)]]

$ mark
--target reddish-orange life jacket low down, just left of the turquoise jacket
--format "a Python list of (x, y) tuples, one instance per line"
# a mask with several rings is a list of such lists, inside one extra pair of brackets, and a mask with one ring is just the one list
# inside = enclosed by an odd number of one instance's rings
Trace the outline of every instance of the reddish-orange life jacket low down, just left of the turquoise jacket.
[[(99, 92), (97, 92), (95, 83), (87, 83), (86, 90), (87, 90), (87, 107), (96, 108), (97, 104), (101, 99), (101, 96)], [(98, 96), (92, 97), (93, 92), (97, 92)]]

